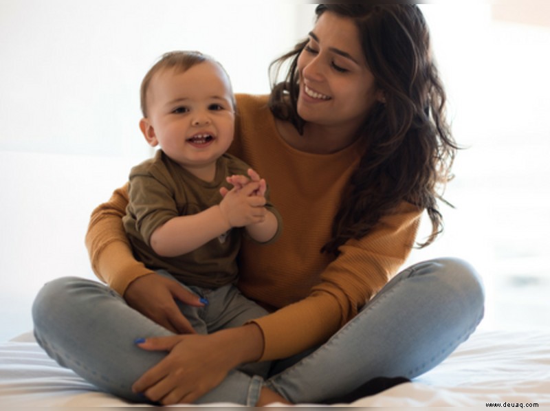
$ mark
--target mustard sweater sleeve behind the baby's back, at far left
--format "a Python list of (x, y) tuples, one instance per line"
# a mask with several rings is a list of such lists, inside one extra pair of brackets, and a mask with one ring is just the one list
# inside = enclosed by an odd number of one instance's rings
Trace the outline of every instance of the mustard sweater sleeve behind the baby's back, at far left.
[(94, 273), (121, 296), (133, 280), (153, 273), (133, 257), (122, 225), (127, 204), (128, 184), (91, 213), (85, 239)]

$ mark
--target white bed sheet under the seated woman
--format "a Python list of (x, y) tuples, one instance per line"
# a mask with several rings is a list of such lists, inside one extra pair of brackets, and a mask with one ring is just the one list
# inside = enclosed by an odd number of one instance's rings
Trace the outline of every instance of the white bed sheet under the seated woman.
[[(486, 403), (550, 406), (549, 331), (478, 330), (445, 362), (415, 381), (335, 406), (485, 408)], [(0, 344), (0, 404), (33, 408), (146, 406), (96, 391), (47, 357), (30, 334)]]

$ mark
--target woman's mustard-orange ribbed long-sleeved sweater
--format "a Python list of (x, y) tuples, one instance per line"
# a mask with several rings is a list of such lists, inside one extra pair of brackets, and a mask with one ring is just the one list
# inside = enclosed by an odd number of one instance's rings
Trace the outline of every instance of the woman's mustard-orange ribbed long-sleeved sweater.
[[(415, 241), (422, 210), (404, 202), (375, 232), (342, 245), (338, 258), (320, 254), (358, 165), (358, 146), (330, 155), (297, 151), (278, 134), (267, 96), (238, 95), (237, 106), (230, 152), (270, 184), (284, 224), (275, 243), (243, 243), (239, 287), (274, 310), (255, 321), (265, 340), (262, 359), (283, 358), (325, 342), (397, 273)], [(115, 190), (92, 213), (86, 236), (96, 275), (120, 294), (151, 273), (133, 258), (124, 234), (127, 203), (126, 186)]]

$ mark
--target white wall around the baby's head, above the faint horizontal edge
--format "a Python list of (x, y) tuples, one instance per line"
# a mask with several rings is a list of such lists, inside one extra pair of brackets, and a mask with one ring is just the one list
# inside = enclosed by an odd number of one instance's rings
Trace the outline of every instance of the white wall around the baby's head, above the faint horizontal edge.
[(0, 0), (0, 148), (143, 155), (139, 87), (158, 56), (198, 49), (225, 66), (236, 91), (265, 93), (267, 66), (297, 41), (304, 8), (311, 5)]

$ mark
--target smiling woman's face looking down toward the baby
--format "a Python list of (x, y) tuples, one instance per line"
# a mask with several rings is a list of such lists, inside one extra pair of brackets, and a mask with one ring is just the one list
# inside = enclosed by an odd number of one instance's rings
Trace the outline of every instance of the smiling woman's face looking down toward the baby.
[(382, 93), (366, 66), (351, 19), (323, 13), (298, 57), (298, 114), (306, 122), (356, 131)]

